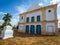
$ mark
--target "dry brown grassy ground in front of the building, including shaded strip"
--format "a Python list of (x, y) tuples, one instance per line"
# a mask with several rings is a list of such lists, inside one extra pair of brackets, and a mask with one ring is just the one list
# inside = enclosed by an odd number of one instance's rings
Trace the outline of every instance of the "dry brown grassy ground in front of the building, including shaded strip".
[(60, 45), (60, 34), (58, 36), (32, 36), (15, 31), (13, 38), (0, 39), (0, 45)]

